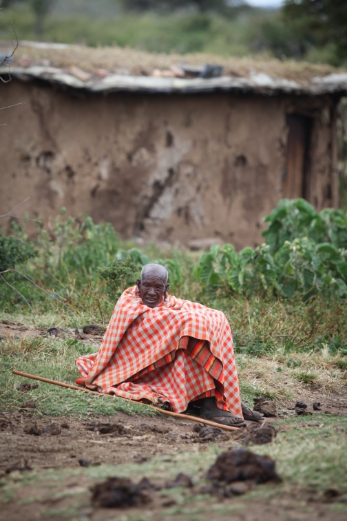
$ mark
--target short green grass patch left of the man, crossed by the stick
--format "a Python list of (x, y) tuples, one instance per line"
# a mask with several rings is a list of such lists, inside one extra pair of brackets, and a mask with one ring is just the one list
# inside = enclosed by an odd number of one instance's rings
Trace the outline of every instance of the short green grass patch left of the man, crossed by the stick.
[[(0, 341), (0, 409), (19, 410), (30, 398), (35, 400), (34, 414), (51, 416), (87, 416), (94, 413), (107, 415), (123, 411), (127, 414), (156, 414), (156, 411), (137, 403), (110, 396), (93, 396), (56, 385), (37, 382), (39, 387), (22, 394), (17, 391), (23, 382), (33, 380), (12, 374), (12, 369), (36, 374), (51, 380), (75, 383), (80, 376), (75, 360), (81, 355), (69, 340), (50, 338), (8, 339)], [(80, 344), (82, 347), (83, 344)]]

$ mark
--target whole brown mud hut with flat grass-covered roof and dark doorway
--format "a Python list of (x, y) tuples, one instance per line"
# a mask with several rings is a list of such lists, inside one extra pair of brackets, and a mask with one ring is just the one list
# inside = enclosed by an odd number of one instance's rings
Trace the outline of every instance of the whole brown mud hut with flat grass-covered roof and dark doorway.
[[(338, 205), (326, 66), (22, 43), (1, 83), (1, 214), (65, 206), (123, 238), (261, 242), (280, 198)], [(221, 67), (206, 67), (204, 63)], [(8, 67), (0, 74), (8, 79)], [(209, 241), (207, 241), (208, 243)]]

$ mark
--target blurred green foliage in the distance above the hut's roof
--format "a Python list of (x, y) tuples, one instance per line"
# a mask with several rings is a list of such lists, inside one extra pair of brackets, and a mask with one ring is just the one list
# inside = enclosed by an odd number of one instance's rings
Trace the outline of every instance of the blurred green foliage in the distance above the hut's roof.
[(265, 54), (346, 63), (346, 3), (287, 0), (257, 9), (242, 0), (2, 0), (0, 38), (130, 46), (155, 52)]

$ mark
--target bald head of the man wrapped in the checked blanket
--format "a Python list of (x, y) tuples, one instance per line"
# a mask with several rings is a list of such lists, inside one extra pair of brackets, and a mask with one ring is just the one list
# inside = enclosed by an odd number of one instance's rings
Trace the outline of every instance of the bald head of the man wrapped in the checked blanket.
[(160, 264), (146, 264), (143, 267), (141, 278), (136, 281), (143, 304), (153, 309), (166, 298), (168, 277), (166, 267)]

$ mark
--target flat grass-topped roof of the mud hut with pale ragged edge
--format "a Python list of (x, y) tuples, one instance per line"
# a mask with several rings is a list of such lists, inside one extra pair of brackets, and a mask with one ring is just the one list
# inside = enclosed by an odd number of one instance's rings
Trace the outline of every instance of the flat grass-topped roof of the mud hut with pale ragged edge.
[[(0, 43), (1, 53), (8, 48), (8, 42)], [(222, 74), (201, 77), (205, 64), (220, 65)], [(347, 72), (330, 65), (210, 54), (155, 54), (119, 47), (21, 42), (10, 70), (19, 79), (41, 79), (92, 92), (347, 92)], [(7, 74), (8, 67), (1, 67), (0, 73)]]

